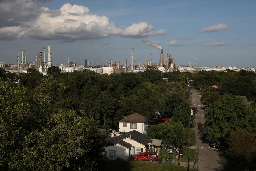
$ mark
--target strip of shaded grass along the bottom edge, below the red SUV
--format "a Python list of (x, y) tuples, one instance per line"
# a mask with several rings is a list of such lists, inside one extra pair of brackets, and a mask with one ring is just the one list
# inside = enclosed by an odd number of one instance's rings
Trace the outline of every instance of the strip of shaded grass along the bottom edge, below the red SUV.
[[(158, 164), (155, 161), (125, 161), (125, 160), (108, 160), (106, 171), (156, 171), (156, 170), (172, 170), (172, 171), (187, 171), (186, 167), (174, 164)], [(190, 168), (191, 170), (191, 168)]]

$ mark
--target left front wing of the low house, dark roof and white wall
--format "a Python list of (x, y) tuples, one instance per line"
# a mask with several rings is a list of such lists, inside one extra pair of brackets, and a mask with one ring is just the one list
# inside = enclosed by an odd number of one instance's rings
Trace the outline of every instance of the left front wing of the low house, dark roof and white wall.
[(132, 145), (123, 141), (118, 137), (107, 137), (105, 145), (105, 151), (109, 159), (121, 158), (128, 160), (130, 158), (130, 152)]

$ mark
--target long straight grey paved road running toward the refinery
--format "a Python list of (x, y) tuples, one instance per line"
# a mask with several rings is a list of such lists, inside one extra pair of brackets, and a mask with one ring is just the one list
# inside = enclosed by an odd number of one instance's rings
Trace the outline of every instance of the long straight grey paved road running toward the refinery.
[(200, 129), (198, 129), (198, 123), (204, 122), (204, 110), (200, 108), (202, 106), (199, 101), (196, 90), (193, 87), (191, 87), (191, 94), (193, 106), (197, 107), (199, 110), (195, 116), (195, 127), (193, 128), (196, 134), (196, 145), (193, 148), (196, 149), (198, 146), (200, 148), (206, 147), (201, 149), (199, 148), (199, 159), (198, 164), (195, 164), (195, 168), (198, 168), (200, 171), (224, 170), (218, 151), (207, 148), (210, 146), (207, 142), (205, 142), (204, 138), (202, 138), (202, 133)]

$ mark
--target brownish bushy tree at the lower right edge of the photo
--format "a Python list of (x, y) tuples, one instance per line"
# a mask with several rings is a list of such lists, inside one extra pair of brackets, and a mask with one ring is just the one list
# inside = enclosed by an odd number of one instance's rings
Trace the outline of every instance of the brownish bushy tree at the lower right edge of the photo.
[(250, 161), (256, 153), (255, 134), (245, 129), (232, 130), (226, 142), (229, 145), (228, 154), (242, 162)]

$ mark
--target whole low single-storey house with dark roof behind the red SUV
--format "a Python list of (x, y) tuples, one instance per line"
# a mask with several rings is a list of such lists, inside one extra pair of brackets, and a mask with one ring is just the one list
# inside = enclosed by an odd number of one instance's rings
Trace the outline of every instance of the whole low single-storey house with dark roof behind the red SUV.
[(105, 151), (110, 159), (128, 159), (129, 154), (139, 154), (146, 151), (153, 151), (158, 154), (162, 145), (162, 140), (150, 139), (136, 130), (118, 137), (107, 137), (106, 141), (108, 143), (105, 146)]

